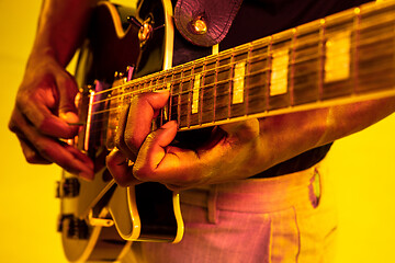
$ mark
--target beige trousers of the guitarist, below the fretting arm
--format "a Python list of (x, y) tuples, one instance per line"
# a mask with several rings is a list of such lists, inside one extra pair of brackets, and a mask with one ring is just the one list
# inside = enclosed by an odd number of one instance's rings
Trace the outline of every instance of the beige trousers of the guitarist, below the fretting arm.
[(324, 163), (180, 193), (180, 243), (135, 242), (123, 262), (331, 262), (337, 215)]

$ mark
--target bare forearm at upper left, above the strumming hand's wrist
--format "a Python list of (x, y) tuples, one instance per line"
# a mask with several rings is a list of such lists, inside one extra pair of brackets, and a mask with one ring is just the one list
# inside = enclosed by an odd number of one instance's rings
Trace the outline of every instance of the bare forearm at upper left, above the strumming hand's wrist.
[(44, 0), (32, 57), (53, 56), (67, 66), (86, 34), (95, 0)]

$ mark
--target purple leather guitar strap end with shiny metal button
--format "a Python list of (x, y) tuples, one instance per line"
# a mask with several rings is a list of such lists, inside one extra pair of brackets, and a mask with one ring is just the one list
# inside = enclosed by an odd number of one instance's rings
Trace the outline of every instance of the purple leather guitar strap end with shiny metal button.
[(218, 44), (229, 31), (242, 0), (178, 0), (174, 23), (198, 46)]

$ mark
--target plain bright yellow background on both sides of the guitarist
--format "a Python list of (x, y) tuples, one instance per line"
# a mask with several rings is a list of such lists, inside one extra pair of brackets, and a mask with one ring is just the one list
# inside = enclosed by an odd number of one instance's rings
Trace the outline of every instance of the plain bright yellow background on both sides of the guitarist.
[[(24, 161), (7, 128), (32, 46), (41, 1), (0, 0), (0, 261), (66, 262), (56, 232), (55, 165)], [(337, 262), (395, 262), (395, 115), (338, 141), (330, 156), (337, 185)]]

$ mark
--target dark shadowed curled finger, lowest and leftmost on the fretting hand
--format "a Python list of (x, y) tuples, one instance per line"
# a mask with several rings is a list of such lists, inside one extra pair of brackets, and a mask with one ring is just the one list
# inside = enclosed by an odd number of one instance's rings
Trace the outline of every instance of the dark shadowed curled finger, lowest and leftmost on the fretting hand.
[(132, 186), (139, 181), (133, 176), (132, 167), (127, 158), (116, 148), (113, 149), (105, 159), (108, 169), (115, 182), (121, 186)]

